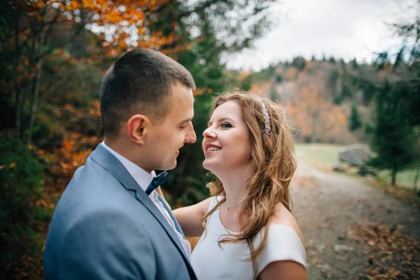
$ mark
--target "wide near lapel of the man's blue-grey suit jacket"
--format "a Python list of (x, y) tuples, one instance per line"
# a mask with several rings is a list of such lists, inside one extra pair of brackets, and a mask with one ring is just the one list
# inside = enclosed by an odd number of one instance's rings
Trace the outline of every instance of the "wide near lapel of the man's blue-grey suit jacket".
[[(167, 232), (167, 235), (169, 235), (170, 239), (174, 242), (176, 247), (178, 248), (179, 252), (183, 256), (184, 260), (187, 263), (188, 270), (191, 272), (192, 268), (190, 266), (190, 260), (188, 258), (188, 255), (186, 255), (186, 251), (184, 250), (183, 246), (181, 245), (181, 242), (179, 241), (178, 237), (176, 237), (176, 234), (174, 230), (171, 228), (169, 223), (166, 221), (165, 217), (162, 216), (162, 213), (160, 213), (159, 209), (153, 204), (151, 199), (146, 195), (143, 189), (137, 184), (137, 182), (133, 179), (133, 177), (130, 175), (130, 173), (125, 169), (124, 165), (111, 153), (109, 153), (108, 150), (101, 144), (97, 146), (97, 148), (92, 152), (90, 155), (90, 158), (94, 162), (96, 162), (98, 165), (101, 165), (108, 171), (109, 173), (113, 174), (113, 176), (120, 181), (121, 185), (123, 185), (124, 188), (127, 190), (133, 190), (136, 195), (136, 199), (141, 202), (141, 204), (148, 209), (148, 211), (151, 212), (151, 214), (156, 218), (156, 220), (159, 221), (160, 225), (162, 225), (162, 228)], [(172, 213), (169, 214), (172, 215)]]

